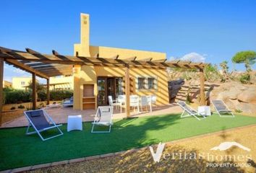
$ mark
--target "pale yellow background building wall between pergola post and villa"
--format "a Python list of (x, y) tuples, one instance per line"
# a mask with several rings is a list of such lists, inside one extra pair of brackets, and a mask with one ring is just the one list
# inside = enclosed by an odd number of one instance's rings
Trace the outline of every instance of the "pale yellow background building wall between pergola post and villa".
[(50, 84), (50, 89), (74, 89), (74, 76), (51, 77)]

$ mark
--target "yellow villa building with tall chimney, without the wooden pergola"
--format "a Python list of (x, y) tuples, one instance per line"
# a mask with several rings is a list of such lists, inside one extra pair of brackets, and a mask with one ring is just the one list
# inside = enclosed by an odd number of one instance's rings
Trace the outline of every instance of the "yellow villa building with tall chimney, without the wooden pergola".
[[(90, 16), (81, 14), (81, 43), (74, 44), (74, 56), (112, 58), (118, 60), (165, 61), (166, 53), (108, 48), (90, 45)], [(108, 96), (114, 99), (125, 94), (124, 66), (75, 66), (74, 109), (96, 109), (108, 105)], [(168, 104), (166, 68), (130, 68), (130, 94), (156, 95), (156, 105)], [(97, 97), (98, 96), (98, 97)]]

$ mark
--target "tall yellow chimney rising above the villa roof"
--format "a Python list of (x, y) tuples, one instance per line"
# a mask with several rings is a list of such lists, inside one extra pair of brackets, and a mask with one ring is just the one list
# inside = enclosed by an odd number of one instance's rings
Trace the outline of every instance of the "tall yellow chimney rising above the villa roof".
[(80, 14), (80, 56), (90, 56), (90, 16), (89, 14)]

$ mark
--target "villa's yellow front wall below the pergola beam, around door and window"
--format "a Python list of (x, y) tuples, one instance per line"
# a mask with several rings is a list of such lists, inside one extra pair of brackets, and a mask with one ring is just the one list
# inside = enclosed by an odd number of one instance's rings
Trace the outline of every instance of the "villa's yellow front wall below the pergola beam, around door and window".
[[(97, 77), (98, 76), (115, 76), (123, 77), (125, 76), (124, 68), (117, 67), (104, 67), (104, 66), (82, 66), (81, 71), (77, 74), (75, 78), (75, 90), (74, 90), (74, 109), (82, 110), (82, 91), (84, 84), (94, 84), (94, 96), (95, 102), (97, 102), (98, 96), (98, 86)], [(157, 89), (137, 89), (137, 77), (155, 77), (157, 79)], [(125, 82), (125, 81), (124, 81)], [(168, 104), (168, 79), (167, 72), (165, 69), (153, 69), (153, 68), (130, 68), (130, 94), (137, 94), (139, 96), (143, 95), (156, 95), (157, 102), (156, 105), (167, 105)], [(125, 91), (124, 91), (125, 92)]]

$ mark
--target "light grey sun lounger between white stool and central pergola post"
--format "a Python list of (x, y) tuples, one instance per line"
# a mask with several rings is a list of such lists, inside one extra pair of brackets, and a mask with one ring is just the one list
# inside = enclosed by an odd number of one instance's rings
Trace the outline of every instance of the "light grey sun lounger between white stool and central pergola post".
[[(112, 123), (113, 108), (114, 107), (112, 107), (112, 106), (98, 107), (98, 110), (95, 114), (95, 118), (93, 121), (93, 128), (91, 130), (91, 133), (110, 133), (111, 125), (113, 124)], [(109, 129), (106, 131), (95, 131), (94, 130), (95, 125), (107, 125), (107, 126), (109, 126)]]

